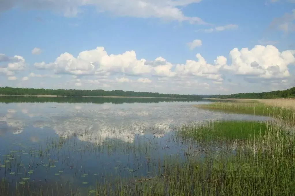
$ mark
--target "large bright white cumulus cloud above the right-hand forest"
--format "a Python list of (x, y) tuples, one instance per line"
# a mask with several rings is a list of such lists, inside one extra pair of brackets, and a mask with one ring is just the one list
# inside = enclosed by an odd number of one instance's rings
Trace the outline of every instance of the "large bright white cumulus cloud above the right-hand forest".
[(275, 46), (257, 45), (248, 48), (234, 48), (230, 51), (231, 65), (223, 68), (238, 75), (258, 78), (285, 78), (290, 76), (288, 65), (295, 63), (294, 52), (280, 52)]

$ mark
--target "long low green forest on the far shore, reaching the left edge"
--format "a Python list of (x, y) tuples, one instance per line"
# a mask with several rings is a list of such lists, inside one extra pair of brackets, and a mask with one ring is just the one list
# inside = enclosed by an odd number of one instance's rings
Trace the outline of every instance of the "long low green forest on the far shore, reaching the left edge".
[(44, 89), (44, 88), (11, 88), (0, 87), (0, 95), (55, 95), (55, 96), (123, 96), (123, 97), (156, 97), (156, 98), (187, 98), (201, 100), (197, 95), (163, 94), (134, 91), (104, 91), (104, 90), (76, 90), (76, 89)]

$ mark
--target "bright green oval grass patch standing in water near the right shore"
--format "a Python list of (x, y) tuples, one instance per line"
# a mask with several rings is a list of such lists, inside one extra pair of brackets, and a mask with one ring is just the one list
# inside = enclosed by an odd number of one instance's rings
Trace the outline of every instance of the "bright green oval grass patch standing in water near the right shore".
[(214, 120), (202, 125), (182, 126), (178, 134), (183, 138), (197, 141), (223, 141), (253, 139), (264, 135), (267, 129), (273, 128), (263, 121)]

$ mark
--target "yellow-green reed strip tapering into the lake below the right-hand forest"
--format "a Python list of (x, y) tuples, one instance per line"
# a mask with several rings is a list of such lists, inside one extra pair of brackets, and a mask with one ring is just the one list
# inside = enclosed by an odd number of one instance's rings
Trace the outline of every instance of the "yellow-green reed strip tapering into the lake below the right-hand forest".
[(215, 102), (204, 105), (196, 105), (196, 107), (231, 113), (262, 115), (287, 120), (289, 122), (295, 121), (295, 111), (293, 108), (266, 105), (259, 102)]

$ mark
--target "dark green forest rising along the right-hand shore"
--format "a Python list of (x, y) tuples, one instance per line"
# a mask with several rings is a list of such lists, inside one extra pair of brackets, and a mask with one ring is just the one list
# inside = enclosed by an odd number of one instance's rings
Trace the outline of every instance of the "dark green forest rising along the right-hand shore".
[(295, 98), (295, 87), (283, 91), (271, 91), (262, 93), (237, 93), (231, 95), (212, 95), (209, 98), (248, 98), (248, 99), (272, 99), (272, 98)]

